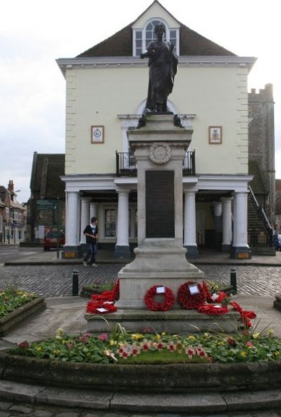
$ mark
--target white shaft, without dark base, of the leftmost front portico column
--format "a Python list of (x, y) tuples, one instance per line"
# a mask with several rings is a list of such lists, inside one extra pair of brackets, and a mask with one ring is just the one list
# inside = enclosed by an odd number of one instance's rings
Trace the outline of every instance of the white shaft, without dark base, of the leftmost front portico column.
[(79, 192), (66, 193), (65, 207), (65, 246), (79, 244)]

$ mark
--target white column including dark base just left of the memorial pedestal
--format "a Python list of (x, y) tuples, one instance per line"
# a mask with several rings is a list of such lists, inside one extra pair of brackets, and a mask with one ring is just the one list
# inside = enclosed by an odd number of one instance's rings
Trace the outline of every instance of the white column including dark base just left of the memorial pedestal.
[(129, 247), (129, 190), (117, 190), (117, 243), (115, 257), (130, 257)]

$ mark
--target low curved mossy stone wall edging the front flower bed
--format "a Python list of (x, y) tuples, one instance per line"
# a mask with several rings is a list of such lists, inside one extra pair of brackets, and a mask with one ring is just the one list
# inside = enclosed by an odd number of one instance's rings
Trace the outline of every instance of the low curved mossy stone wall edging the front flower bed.
[(281, 361), (235, 364), (79, 364), (0, 352), (0, 379), (114, 392), (253, 392), (281, 388)]

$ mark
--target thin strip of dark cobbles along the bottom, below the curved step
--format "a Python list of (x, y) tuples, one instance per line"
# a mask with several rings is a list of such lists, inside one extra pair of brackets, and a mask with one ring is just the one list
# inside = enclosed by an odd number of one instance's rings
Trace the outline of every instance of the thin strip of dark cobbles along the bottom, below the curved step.
[(252, 411), (247, 412), (236, 412), (236, 413), (204, 413), (201, 414), (172, 414), (172, 413), (105, 413), (100, 410), (83, 410), (83, 409), (70, 409), (67, 407), (58, 406), (40, 406), (39, 404), (29, 403), (12, 403), (12, 402), (1, 402), (0, 401), (0, 417), (280, 417), (281, 411)]

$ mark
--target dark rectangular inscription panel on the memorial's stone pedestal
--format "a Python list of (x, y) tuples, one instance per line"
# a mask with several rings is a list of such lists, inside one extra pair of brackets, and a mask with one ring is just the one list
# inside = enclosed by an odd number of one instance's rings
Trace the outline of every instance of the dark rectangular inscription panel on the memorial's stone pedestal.
[(174, 171), (145, 172), (146, 237), (175, 237)]

